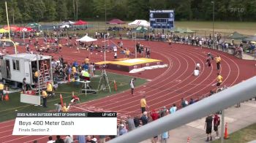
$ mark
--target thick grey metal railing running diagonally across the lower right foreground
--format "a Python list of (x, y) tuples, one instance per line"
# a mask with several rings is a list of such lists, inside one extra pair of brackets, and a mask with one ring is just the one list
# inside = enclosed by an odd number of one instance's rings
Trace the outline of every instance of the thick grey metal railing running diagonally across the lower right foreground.
[(231, 88), (222, 90), (219, 93), (215, 93), (213, 96), (204, 98), (195, 104), (189, 105), (183, 109), (178, 110), (174, 114), (167, 115), (159, 118), (152, 123), (143, 125), (134, 131), (130, 131), (127, 134), (118, 136), (116, 139), (112, 139), (110, 143), (136, 143), (149, 139), (152, 136), (162, 134), (165, 131), (170, 131), (174, 128), (178, 128), (181, 125), (192, 122), (193, 120), (206, 117), (214, 112), (221, 111), (227, 107), (231, 107), (241, 101), (254, 98), (256, 93), (256, 76), (234, 85)]

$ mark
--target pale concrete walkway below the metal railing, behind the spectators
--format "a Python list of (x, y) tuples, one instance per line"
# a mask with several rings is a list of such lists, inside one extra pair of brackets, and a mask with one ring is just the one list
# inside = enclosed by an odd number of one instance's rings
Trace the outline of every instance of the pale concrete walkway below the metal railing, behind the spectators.
[[(220, 115), (221, 118), (221, 115)], [(256, 123), (256, 101), (246, 101), (241, 103), (241, 107), (230, 107), (225, 109), (225, 123), (227, 122), (228, 134), (245, 128), (248, 125)], [(206, 142), (206, 131), (204, 129), (206, 117), (195, 120), (192, 123), (187, 123), (179, 128), (170, 131), (170, 139), (168, 143), (185, 143), (187, 138), (190, 138), (189, 143), (203, 143)], [(220, 124), (221, 125), (221, 124)], [(215, 139), (215, 132), (212, 132), (213, 140)], [(220, 134), (220, 126), (219, 126)], [(149, 143), (150, 139), (141, 143)]]

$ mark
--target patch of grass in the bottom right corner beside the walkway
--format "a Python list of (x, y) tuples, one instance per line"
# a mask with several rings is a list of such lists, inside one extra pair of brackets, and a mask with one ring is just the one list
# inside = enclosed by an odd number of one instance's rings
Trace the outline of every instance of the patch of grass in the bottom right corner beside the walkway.
[[(241, 142), (250, 142), (255, 140), (256, 135), (256, 123), (247, 126), (239, 131), (236, 131), (233, 134), (230, 134), (230, 139), (226, 139), (225, 143), (241, 143)], [(214, 141), (213, 143), (219, 143), (220, 139)]]

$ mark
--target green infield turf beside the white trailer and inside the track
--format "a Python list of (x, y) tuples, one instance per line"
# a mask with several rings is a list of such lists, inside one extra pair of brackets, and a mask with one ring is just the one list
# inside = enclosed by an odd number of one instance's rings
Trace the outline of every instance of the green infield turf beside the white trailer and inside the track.
[[(99, 74), (99, 73), (97, 73)], [(59, 94), (64, 98), (64, 102), (67, 104), (71, 100), (72, 91), (75, 92), (75, 95), (79, 96), (80, 102), (94, 100), (96, 98), (102, 98), (105, 96), (110, 96), (114, 93), (120, 93), (124, 90), (129, 89), (129, 80), (131, 77), (124, 76), (121, 74), (113, 74), (107, 73), (108, 80), (110, 82), (111, 93), (108, 91), (99, 91), (97, 94), (90, 93), (85, 95), (85, 93), (80, 93), (80, 88), (82, 84), (76, 84), (75, 82), (69, 82), (67, 84), (59, 85), (59, 88), (56, 90), (56, 97), (48, 98), (47, 104), (48, 108), (42, 108), (40, 106), (34, 106), (31, 104), (20, 103), (20, 93), (11, 93), (10, 101), (0, 101), (0, 121), (14, 119), (16, 116), (16, 112), (45, 112), (49, 110), (54, 110), (56, 106), (54, 104), (58, 104), (60, 102)], [(114, 89), (113, 80), (116, 80), (116, 85), (118, 90)], [(135, 82), (136, 86), (142, 85), (146, 80), (138, 78)], [(99, 85), (99, 77), (93, 78), (91, 80), (91, 84), (93, 89), (97, 89)], [(17, 110), (17, 111), (16, 111)]]

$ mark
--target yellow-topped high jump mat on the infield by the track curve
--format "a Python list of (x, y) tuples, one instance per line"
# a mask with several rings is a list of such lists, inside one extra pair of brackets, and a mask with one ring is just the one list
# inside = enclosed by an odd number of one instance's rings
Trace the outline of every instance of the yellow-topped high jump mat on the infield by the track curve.
[(118, 59), (116, 61), (101, 61), (95, 63), (97, 68), (106, 65), (105, 68), (113, 69), (117, 71), (131, 71), (132, 69), (139, 69), (145, 66), (155, 66), (162, 65), (161, 60), (153, 59), (153, 58), (124, 58)]

